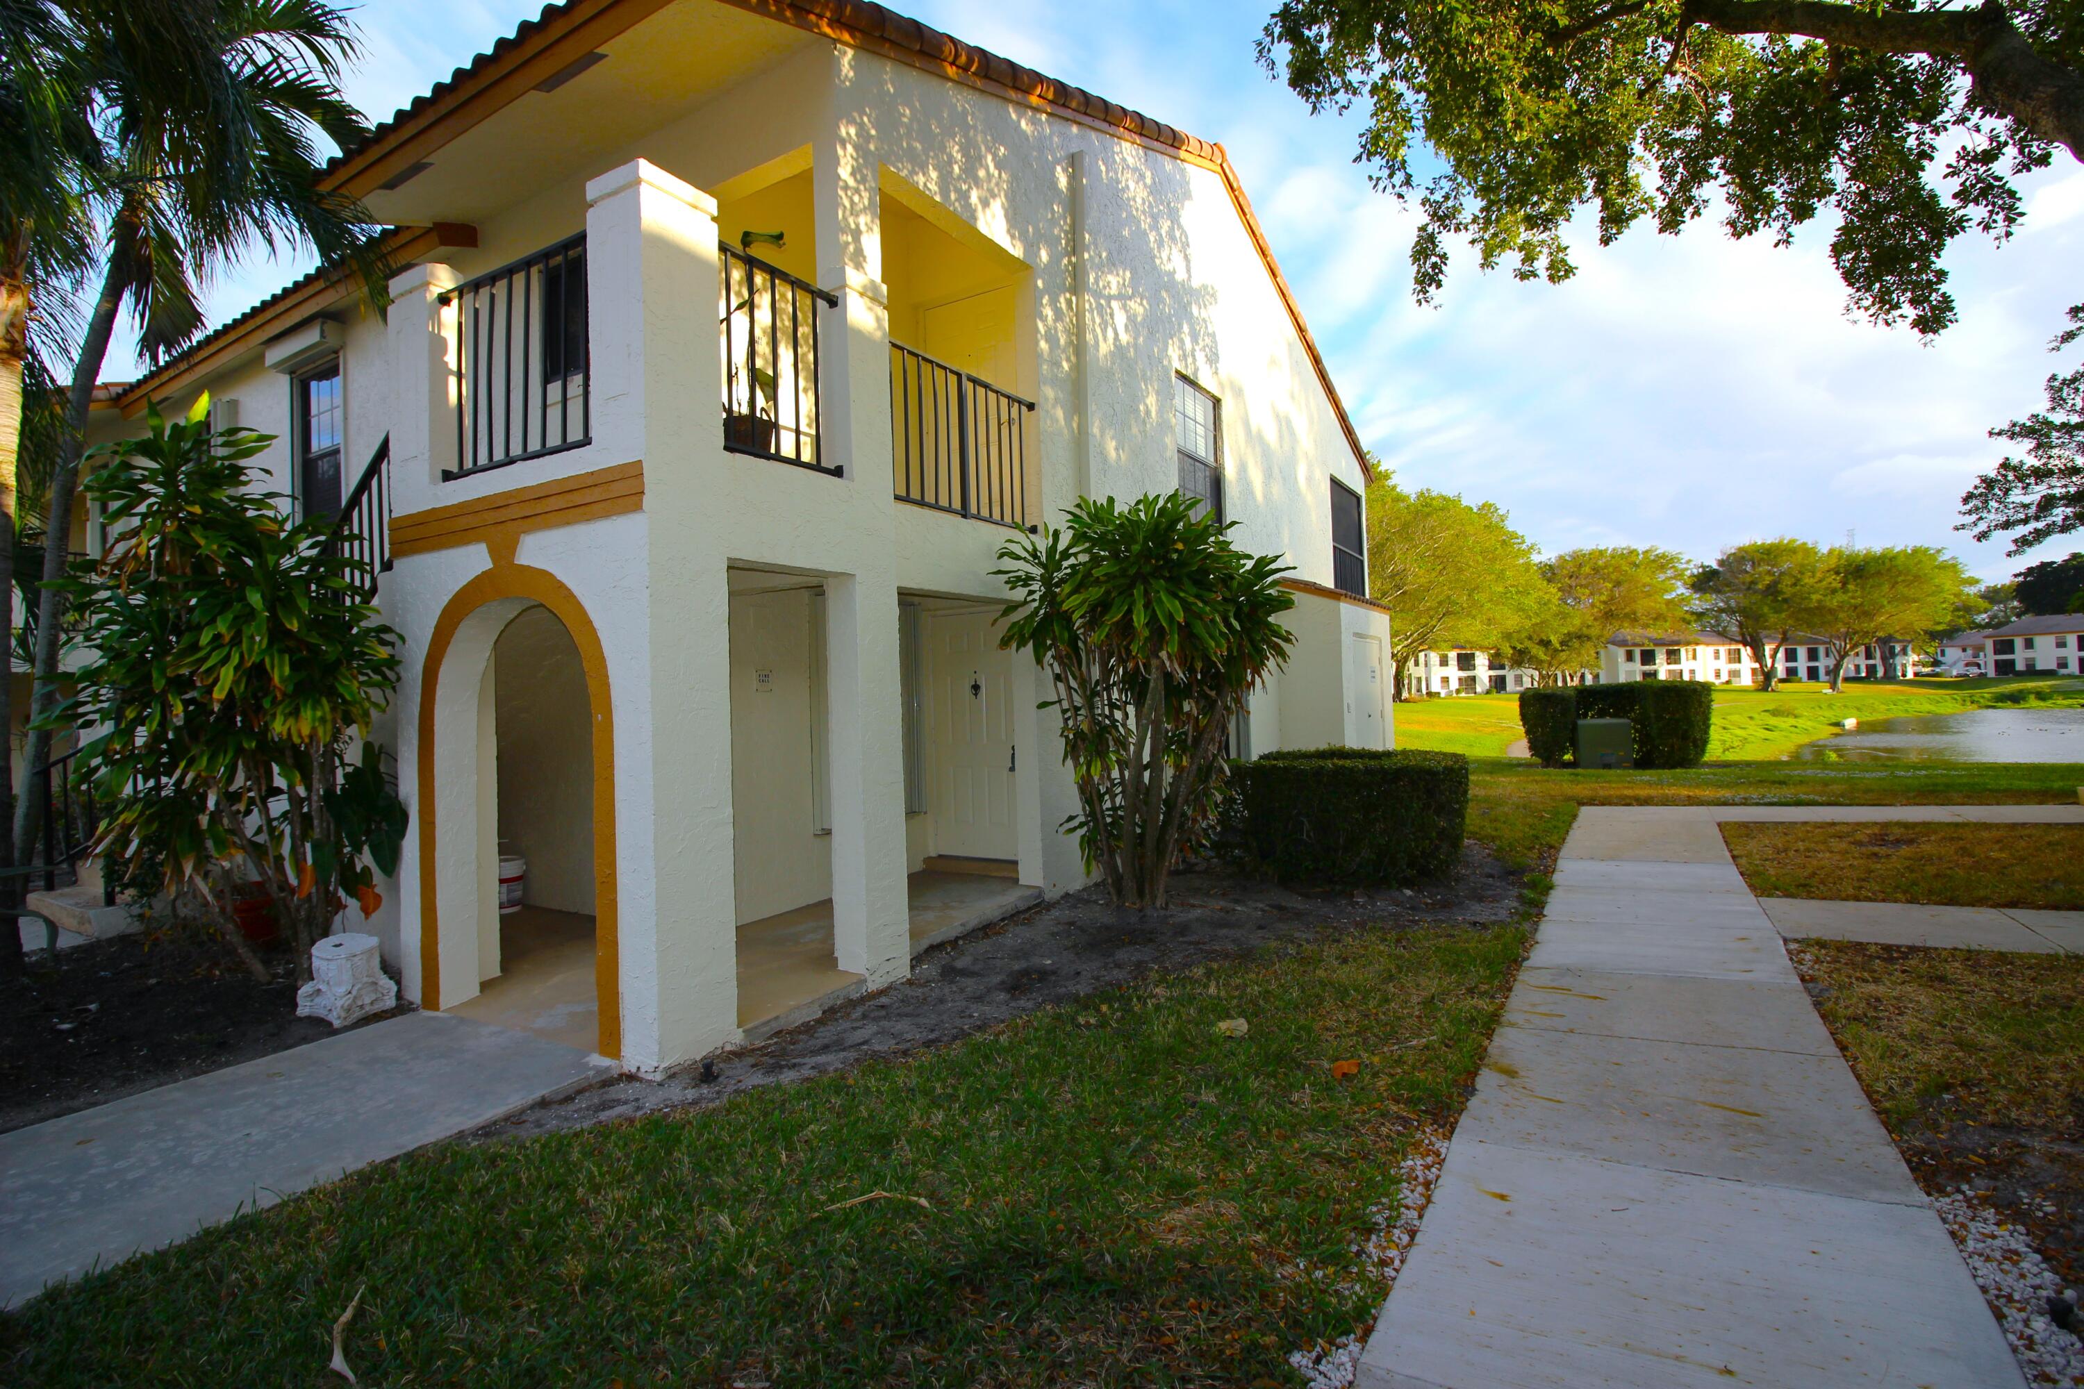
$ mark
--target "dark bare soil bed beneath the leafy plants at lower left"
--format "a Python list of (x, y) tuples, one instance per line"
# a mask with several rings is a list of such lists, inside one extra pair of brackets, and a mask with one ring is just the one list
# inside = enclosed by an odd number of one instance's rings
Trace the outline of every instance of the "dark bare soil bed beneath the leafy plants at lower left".
[(296, 1016), (290, 954), (267, 960), (260, 983), (213, 941), (144, 933), (31, 956), (0, 985), (0, 1133), (333, 1037)]

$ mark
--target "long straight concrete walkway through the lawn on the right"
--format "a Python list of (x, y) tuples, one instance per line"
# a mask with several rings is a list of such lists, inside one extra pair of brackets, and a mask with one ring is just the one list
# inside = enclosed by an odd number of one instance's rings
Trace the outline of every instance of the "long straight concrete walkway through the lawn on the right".
[(1578, 814), (1359, 1385), (2024, 1385), (1726, 810)]

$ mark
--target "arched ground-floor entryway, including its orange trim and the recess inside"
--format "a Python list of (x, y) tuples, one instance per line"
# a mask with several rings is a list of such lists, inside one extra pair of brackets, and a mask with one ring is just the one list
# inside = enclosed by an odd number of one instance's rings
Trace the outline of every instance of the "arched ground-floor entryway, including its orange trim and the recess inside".
[[(421, 1006), (619, 1056), (615, 718), (600, 637), (554, 575), (500, 564), (442, 610), (417, 818)], [(527, 860), (504, 916), (502, 839)]]

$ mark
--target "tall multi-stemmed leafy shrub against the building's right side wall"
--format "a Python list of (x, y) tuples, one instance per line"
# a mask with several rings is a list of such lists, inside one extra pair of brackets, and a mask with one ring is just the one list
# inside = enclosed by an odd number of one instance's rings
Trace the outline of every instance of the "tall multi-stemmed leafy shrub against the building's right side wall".
[(1050, 673), (1086, 868), (1121, 906), (1165, 906), (1182, 845), (1207, 833), (1225, 735), (1294, 637), (1286, 566), (1244, 554), (1194, 498), (1086, 498), (1063, 529), (998, 550), (1015, 602), (1002, 643)]

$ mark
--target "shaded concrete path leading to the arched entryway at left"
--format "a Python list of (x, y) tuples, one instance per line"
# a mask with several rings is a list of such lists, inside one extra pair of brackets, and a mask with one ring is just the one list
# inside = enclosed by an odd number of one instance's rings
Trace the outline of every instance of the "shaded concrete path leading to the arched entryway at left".
[(413, 1012), (0, 1133), (0, 1306), (488, 1125), (602, 1066), (542, 1037)]

